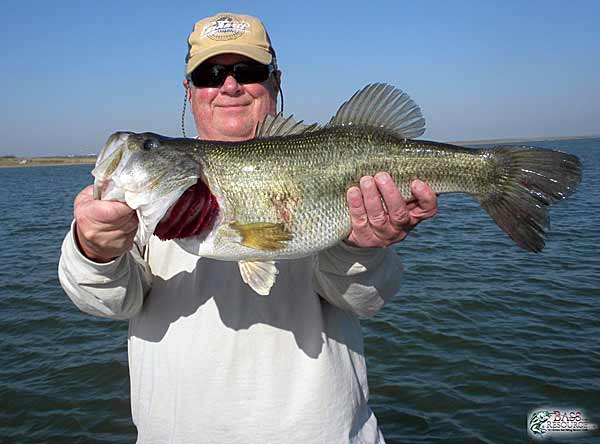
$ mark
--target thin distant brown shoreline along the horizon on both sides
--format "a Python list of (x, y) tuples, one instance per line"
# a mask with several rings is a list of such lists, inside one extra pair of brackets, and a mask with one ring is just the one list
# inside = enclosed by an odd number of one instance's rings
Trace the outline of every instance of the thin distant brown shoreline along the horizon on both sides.
[[(600, 134), (589, 136), (565, 136), (565, 137), (531, 137), (514, 139), (482, 139), (482, 140), (459, 140), (451, 143), (453, 145), (490, 145), (498, 143), (526, 143), (526, 142), (551, 142), (554, 140), (575, 140), (575, 139), (597, 139)], [(56, 166), (56, 165), (77, 165), (94, 164), (96, 155), (85, 156), (0, 156), (0, 168), (2, 167), (27, 167), (27, 166)]]

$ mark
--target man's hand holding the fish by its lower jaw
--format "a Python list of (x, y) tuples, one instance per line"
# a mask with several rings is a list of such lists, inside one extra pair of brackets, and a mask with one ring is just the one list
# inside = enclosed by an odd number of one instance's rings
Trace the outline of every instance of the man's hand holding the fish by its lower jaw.
[(94, 262), (110, 262), (133, 247), (138, 219), (122, 202), (94, 200), (93, 185), (73, 204), (75, 232), (81, 252)]

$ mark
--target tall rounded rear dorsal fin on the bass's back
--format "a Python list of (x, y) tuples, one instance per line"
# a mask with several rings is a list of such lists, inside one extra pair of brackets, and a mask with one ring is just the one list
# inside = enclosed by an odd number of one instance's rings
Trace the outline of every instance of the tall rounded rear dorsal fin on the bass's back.
[(408, 94), (386, 83), (372, 83), (357, 91), (327, 124), (350, 125), (385, 128), (405, 139), (425, 132), (421, 109)]

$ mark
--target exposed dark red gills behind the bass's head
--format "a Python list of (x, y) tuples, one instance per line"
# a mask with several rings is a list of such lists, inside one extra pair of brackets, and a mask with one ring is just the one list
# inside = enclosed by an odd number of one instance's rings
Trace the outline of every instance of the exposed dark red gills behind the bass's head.
[(210, 230), (219, 212), (217, 198), (198, 180), (167, 210), (154, 230), (160, 240), (183, 239)]

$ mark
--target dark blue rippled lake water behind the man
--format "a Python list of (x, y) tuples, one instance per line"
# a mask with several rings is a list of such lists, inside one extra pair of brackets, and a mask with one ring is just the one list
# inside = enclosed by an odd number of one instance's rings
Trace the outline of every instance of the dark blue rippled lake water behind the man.
[[(528, 442), (527, 414), (576, 408), (600, 425), (600, 139), (551, 210), (541, 254), (472, 199), (397, 245), (403, 291), (364, 320), (371, 406), (388, 443)], [(56, 269), (90, 165), (0, 169), (0, 442), (132, 443), (127, 323), (80, 313)], [(600, 442), (600, 434), (563, 442)]]

